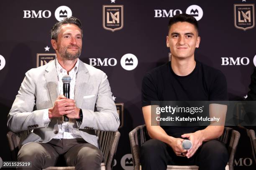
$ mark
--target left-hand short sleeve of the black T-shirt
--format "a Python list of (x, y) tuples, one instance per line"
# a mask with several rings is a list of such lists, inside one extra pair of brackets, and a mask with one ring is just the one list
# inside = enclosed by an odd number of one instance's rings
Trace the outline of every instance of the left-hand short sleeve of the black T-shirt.
[(146, 74), (142, 80), (141, 107), (151, 105), (151, 101), (158, 101), (156, 83), (150, 74)]

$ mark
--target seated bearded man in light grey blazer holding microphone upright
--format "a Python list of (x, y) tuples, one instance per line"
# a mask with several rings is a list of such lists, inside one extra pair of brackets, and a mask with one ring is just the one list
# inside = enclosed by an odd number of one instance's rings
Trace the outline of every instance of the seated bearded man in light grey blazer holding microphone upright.
[[(40, 170), (63, 155), (77, 170), (100, 170), (103, 155), (95, 130), (115, 131), (120, 124), (107, 75), (78, 59), (82, 24), (77, 18), (56, 23), (51, 44), (56, 59), (26, 72), (8, 115), (13, 132), (32, 130), (18, 160), (32, 161), (33, 170)], [(62, 95), (61, 79), (67, 74), (72, 79), (70, 99)]]

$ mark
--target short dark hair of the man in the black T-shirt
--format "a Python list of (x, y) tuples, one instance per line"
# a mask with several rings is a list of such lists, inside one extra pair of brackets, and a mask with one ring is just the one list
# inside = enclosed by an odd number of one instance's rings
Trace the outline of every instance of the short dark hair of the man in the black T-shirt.
[(170, 31), (171, 26), (173, 24), (175, 24), (175, 23), (178, 23), (178, 22), (187, 22), (187, 23), (193, 24), (195, 26), (195, 29), (199, 33), (197, 20), (192, 15), (189, 15), (189, 14), (177, 14), (177, 15), (174, 15), (174, 17), (172, 17), (169, 20), (168, 33)]

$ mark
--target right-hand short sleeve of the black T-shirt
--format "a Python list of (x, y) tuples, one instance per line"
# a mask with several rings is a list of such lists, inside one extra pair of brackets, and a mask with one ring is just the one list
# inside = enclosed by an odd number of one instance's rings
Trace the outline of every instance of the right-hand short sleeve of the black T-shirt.
[[(210, 88), (210, 101), (228, 101), (228, 87), (225, 75), (218, 71)], [(221, 103), (222, 104), (222, 103)], [(225, 103), (223, 103), (225, 104)]]

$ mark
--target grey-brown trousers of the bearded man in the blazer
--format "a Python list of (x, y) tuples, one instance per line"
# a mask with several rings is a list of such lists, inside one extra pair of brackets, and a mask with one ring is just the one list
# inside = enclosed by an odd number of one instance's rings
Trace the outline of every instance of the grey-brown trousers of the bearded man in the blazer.
[(18, 161), (31, 161), (32, 168), (18, 170), (41, 170), (55, 166), (60, 155), (63, 155), (67, 166), (76, 170), (100, 170), (103, 160), (102, 152), (96, 146), (82, 138), (52, 139), (48, 143), (28, 143), (18, 153)]

